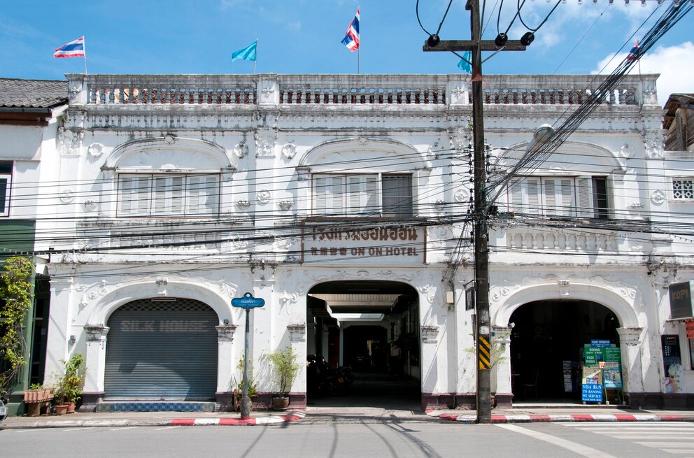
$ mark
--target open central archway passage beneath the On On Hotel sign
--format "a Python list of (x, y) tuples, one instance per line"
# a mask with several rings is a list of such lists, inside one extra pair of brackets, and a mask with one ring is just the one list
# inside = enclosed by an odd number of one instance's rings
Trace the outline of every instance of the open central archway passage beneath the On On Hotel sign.
[(309, 291), (307, 353), (331, 369), (351, 366), (354, 382), (339, 394), (318, 389), (309, 370), (309, 406), (418, 408), (420, 320), (416, 290), (402, 282), (331, 281)]

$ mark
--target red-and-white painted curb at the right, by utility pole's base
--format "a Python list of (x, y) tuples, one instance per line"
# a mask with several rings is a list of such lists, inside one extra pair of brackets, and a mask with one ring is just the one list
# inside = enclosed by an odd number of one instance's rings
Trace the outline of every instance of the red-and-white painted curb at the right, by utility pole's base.
[[(440, 410), (427, 410), (427, 415), (440, 420), (461, 423), (475, 423), (477, 415), (451, 415)], [(635, 414), (628, 413), (574, 413), (574, 414), (530, 414), (530, 415), (492, 415), (492, 423), (533, 423), (533, 422), (693, 422), (694, 415)]]

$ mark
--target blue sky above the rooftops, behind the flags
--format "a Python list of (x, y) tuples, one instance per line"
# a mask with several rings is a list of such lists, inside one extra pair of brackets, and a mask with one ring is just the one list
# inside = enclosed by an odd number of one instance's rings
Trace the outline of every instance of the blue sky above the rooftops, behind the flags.
[[(522, 0), (521, 0), (522, 1)], [(665, 0), (663, 6), (672, 0)], [(525, 52), (500, 52), (485, 73), (595, 73), (625, 53), (653, 24), (639, 29), (657, 2), (565, 0)], [(517, 0), (488, 0), (484, 38), (506, 29)], [(232, 52), (256, 38), (257, 73), (357, 73), (357, 53), (340, 43), (361, 8), (361, 73), (460, 73), (460, 59), (423, 52), (427, 34), (416, 0), (0, 0), (0, 76), (61, 79), (84, 71), (82, 59), (55, 59), (63, 43), (85, 36), (89, 73), (253, 73), (253, 63), (231, 62)], [(555, 0), (526, 0), (523, 20), (537, 27)], [(435, 31), (448, 0), (420, 0), (419, 17)], [(694, 14), (694, 13), (693, 13)], [(643, 73), (661, 73), (659, 99), (694, 92), (694, 15), (688, 15), (642, 59)], [(509, 38), (526, 31), (516, 21)], [(469, 39), (465, 2), (453, 0), (439, 35)], [(622, 56), (623, 57), (623, 56)], [(690, 80), (690, 81), (687, 81)]]

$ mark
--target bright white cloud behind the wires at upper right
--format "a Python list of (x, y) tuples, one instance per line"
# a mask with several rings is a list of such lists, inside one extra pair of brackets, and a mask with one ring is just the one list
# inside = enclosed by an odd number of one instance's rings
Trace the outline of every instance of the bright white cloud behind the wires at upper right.
[[(611, 73), (627, 55), (627, 52), (622, 52), (614, 59), (607, 56), (590, 73)], [(639, 64), (633, 66), (630, 73), (638, 74)], [(656, 85), (661, 106), (665, 105), (670, 94), (694, 93), (694, 81), (689, 78), (694, 74), (694, 43), (686, 41), (680, 45), (656, 47), (641, 58), (641, 73), (660, 73)]]

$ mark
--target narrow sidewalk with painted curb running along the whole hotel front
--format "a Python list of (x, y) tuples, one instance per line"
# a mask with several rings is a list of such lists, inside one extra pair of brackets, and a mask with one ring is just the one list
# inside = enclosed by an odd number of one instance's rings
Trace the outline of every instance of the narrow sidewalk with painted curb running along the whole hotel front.
[[(253, 411), (250, 420), (239, 413), (125, 412), (74, 413), (63, 416), (8, 417), (0, 429), (61, 427), (183, 427), (252, 426), (297, 422), (298, 424), (403, 423), (403, 422), (475, 423), (474, 410), (416, 410), (374, 407), (312, 407), (286, 413)], [(617, 406), (581, 406), (576, 404), (516, 404), (514, 408), (493, 409), (493, 423), (530, 422), (672, 422), (694, 421), (691, 410), (630, 410)]]

